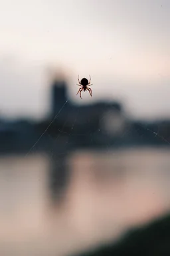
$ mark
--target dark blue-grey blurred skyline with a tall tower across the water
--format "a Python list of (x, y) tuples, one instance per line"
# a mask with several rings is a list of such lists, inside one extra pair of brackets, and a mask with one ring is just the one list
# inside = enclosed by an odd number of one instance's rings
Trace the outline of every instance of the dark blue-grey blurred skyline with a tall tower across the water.
[(115, 101), (74, 105), (64, 79), (54, 79), (50, 88), (46, 119), (0, 119), (1, 154), (170, 145), (170, 120), (133, 121), (124, 114), (124, 104)]

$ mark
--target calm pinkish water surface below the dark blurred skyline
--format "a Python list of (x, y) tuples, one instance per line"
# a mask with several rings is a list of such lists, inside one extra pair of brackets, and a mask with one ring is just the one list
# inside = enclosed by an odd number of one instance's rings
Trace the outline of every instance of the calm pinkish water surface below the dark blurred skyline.
[(66, 255), (116, 239), (169, 211), (169, 178), (167, 149), (1, 157), (0, 255)]

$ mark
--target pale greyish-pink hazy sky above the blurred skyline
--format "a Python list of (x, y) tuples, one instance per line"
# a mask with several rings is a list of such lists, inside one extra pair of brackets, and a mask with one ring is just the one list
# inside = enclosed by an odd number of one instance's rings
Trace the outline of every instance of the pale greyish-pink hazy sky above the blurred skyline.
[[(122, 99), (133, 117), (170, 117), (169, 0), (5, 0), (0, 31), (0, 115), (41, 118), (46, 67), (62, 65), (74, 103)], [(78, 74), (93, 98), (76, 96)]]

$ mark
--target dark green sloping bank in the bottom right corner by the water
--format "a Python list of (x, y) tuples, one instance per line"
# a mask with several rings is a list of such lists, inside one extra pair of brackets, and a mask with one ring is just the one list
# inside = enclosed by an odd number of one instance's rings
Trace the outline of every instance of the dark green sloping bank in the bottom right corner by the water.
[(76, 256), (170, 256), (170, 215), (135, 229), (114, 245)]

